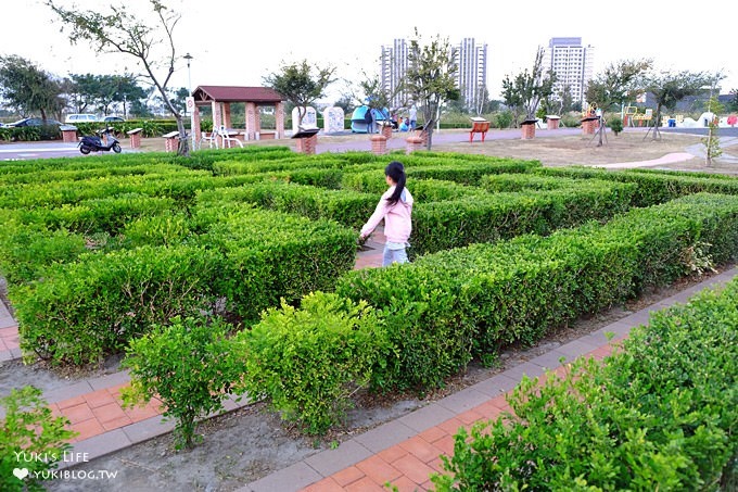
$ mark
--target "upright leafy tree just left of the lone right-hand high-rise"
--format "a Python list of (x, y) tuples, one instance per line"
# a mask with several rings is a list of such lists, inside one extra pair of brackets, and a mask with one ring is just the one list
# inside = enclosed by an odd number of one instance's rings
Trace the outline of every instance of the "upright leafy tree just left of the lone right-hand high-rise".
[(516, 76), (514, 80), (507, 75), (502, 80), (502, 96), (506, 104), (513, 109), (516, 126), (521, 112), (525, 114), (525, 119), (533, 119), (540, 101), (550, 98), (554, 93), (556, 74), (552, 71), (543, 73), (543, 60), (544, 50), (538, 47), (531, 72), (525, 68)]

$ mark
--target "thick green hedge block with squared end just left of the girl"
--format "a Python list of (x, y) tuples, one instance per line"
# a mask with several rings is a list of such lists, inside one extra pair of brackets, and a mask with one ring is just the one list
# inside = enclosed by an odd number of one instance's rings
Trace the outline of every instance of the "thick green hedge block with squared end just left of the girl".
[(354, 267), (357, 234), (332, 220), (252, 210), (244, 204), (199, 206), (193, 230), (203, 248), (224, 258), (216, 282), (228, 308), (245, 320), (296, 302), (315, 290), (332, 290)]

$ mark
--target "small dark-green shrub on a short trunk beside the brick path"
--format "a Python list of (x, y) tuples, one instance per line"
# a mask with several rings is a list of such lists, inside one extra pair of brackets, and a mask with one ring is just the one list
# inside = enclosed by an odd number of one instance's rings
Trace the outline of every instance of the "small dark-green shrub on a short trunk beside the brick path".
[(230, 326), (219, 319), (174, 317), (168, 326), (154, 325), (143, 337), (131, 340), (122, 367), (130, 369), (130, 387), (120, 391), (133, 406), (156, 398), (176, 420), (177, 447), (194, 446), (196, 420), (222, 411), (222, 402), (242, 373), (231, 343)]

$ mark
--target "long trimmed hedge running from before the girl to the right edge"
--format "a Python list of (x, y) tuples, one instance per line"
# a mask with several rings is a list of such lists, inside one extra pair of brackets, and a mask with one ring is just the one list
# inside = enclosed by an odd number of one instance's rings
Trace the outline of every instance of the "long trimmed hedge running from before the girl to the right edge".
[(474, 356), (532, 343), (552, 327), (738, 253), (738, 198), (697, 194), (605, 226), (427, 255), (345, 275), (336, 292), (382, 310), (399, 356), (376, 383), (429, 388)]

